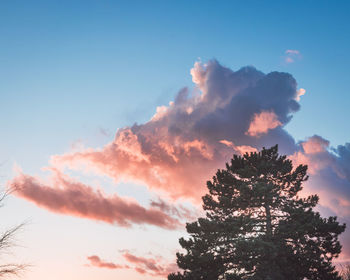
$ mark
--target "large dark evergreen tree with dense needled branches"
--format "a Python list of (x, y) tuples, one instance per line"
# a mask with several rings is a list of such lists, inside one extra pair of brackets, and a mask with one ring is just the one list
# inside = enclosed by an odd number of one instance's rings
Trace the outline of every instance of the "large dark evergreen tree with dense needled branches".
[(345, 224), (314, 211), (317, 195), (298, 197), (307, 179), (307, 166), (293, 169), (277, 145), (234, 155), (207, 182), (206, 217), (186, 225), (182, 272), (168, 280), (341, 279), (332, 259)]

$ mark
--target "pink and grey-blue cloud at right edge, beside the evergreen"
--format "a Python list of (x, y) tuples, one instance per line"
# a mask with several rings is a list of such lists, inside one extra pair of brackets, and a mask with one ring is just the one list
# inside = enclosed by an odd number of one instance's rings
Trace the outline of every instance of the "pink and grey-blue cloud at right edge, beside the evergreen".
[[(330, 148), (329, 141), (314, 135), (298, 145), (299, 150), (290, 158), (294, 164), (307, 164), (310, 179), (305, 183), (306, 195), (318, 194), (319, 210), (325, 215), (337, 215), (350, 224), (350, 143)], [(350, 259), (350, 232), (340, 237), (342, 259)]]

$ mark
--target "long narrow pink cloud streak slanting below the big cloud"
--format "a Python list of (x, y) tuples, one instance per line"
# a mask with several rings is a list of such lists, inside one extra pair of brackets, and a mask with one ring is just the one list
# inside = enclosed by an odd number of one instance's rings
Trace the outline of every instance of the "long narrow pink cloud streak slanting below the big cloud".
[(48, 183), (19, 173), (11, 182), (15, 195), (31, 201), (51, 212), (77, 216), (129, 227), (131, 224), (149, 224), (175, 229), (180, 223), (157, 208), (149, 208), (132, 199), (117, 195), (106, 196), (101, 190), (74, 181), (58, 170)]

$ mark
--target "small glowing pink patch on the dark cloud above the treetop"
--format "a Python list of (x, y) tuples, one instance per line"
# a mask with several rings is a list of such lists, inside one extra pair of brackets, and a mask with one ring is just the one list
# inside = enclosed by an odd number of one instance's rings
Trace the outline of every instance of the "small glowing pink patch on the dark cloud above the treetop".
[(259, 137), (262, 134), (266, 134), (269, 130), (281, 125), (282, 123), (278, 120), (278, 117), (274, 112), (263, 111), (254, 115), (246, 134)]

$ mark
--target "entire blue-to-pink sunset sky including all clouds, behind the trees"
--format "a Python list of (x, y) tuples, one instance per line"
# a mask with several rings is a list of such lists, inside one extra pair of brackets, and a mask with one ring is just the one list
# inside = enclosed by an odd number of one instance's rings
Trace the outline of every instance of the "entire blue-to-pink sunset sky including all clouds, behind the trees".
[(276, 143), (350, 221), (349, 8), (0, 1), (1, 185), (20, 186), (1, 228), (27, 222), (5, 259), (26, 280), (165, 279), (205, 181)]

